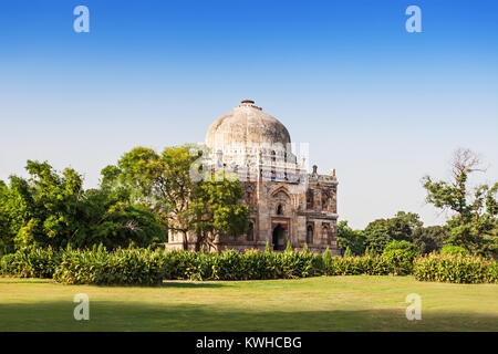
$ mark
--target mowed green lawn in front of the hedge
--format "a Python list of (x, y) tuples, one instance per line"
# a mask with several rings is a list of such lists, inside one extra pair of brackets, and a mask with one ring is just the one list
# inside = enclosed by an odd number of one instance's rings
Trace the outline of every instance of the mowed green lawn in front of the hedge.
[[(77, 293), (90, 298), (90, 321), (73, 317)], [(405, 316), (409, 293), (422, 296), (421, 321)], [(357, 275), (141, 288), (0, 278), (0, 331), (498, 331), (498, 284)]]

